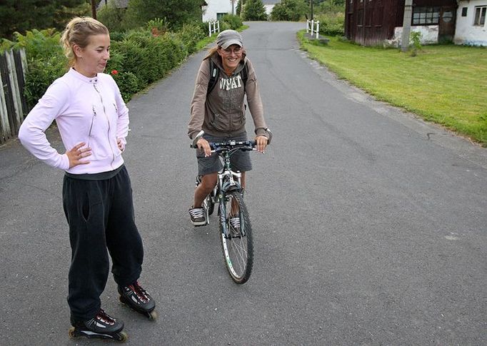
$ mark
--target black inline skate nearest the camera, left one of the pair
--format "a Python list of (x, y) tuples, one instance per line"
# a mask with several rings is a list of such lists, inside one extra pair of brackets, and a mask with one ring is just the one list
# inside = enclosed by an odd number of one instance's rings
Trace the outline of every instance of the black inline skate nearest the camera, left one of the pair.
[(119, 342), (127, 340), (126, 332), (122, 332), (124, 322), (117, 321), (114, 317), (104, 312), (103, 309), (100, 309), (91, 320), (74, 320), (71, 317), (71, 325), (73, 327), (69, 330), (69, 337), (96, 337)]

